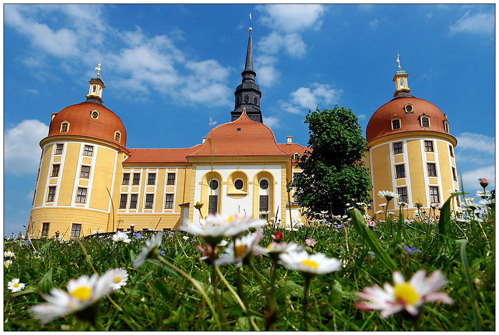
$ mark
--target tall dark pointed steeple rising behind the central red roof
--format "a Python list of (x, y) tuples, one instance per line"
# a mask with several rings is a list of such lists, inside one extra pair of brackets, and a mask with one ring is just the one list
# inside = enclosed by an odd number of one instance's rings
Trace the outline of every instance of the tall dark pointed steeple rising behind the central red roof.
[(246, 114), (249, 119), (263, 123), (262, 112), (260, 111), (260, 98), (262, 93), (260, 87), (255, 83), (257, 74), (253, 71), (253, 46), (251, 40), (251, 14), (249, 14), (250, 27), (248, 49), (246, 51), (246, 63), (244, 71), (242, 71), (242, 83), (237, 86), (234, 92), (235, 107), (231, 115), (231, 121), (235, 121), (241, 116), (242, 109), (246, 109)]

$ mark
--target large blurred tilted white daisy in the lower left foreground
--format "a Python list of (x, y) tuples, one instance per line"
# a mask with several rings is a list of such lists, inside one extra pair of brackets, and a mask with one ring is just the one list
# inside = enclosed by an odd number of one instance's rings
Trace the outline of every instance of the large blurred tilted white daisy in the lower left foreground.
[[(113, 278), (108, 272), (101, 277), (94, 274), (92, 277), (84, 275), (77, 279), (71, 279), (66, 285), (67, 292), (56, 287), (51, 288), (50, 294), (44, 295), (47, 302), (33, 306), (31, 311), (34, 318), (40, 320), (41, 323), (47, 323), (64, 315), (78, 313), (95, 305), (102, 297), (110, 294), (113, 291), (112, 282)], [(79, 313), (78, 316), (84, 319), (95, 317), (90, 311), (89, 313)]]

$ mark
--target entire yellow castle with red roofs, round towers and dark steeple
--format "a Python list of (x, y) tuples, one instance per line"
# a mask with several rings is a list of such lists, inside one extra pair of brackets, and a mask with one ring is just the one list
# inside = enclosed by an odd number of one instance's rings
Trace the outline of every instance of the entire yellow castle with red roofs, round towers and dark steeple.
[[(208, 213), (258, 217), (268, 212), (282, 225), (299, 217), (287, 185), (301, 172), (296, 161), (307, 147), (293, 143), (291, 136), (277, 143), (263, 124), (251, 29), (231, 122), (190, 148), (127, 148), (123, 122), (103, 105), (100, 64), (96, 70), (87, 99), (53, 113), (49, 134), (40, 142), (30, 234), (82, 237), (132, 224), (135, 230), (171, 230)], [(365, 163), (374, 186), (371, 216), (384, 202), (380, 190), (397, 192), (410, 213), (413, 202), (429, 208), (448, 198), (446, 190), (459, 189), (453, 157), (457, 141), (449, 134), (447, 117), (413, 97), (407, 77), (399, 66), (394, 98), (373, 114), (366, 129)], [(196, 203), (203, 204), (200, 210)]]

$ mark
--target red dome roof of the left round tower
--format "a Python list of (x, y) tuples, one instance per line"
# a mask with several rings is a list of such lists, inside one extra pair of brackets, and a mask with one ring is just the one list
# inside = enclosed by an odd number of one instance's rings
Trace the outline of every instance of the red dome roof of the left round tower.
[[(97, 111), (97, 118), (92, 117), (92, 112)], [(69, 122), (68, 131), (61, 132), (61, 124)], [(95, 137), (110, 142), (115, 142), (115, 131), (121, 133), (119, 144), (126, 146), (126, 130), (120, 118), (100, 104), (83, 102), (66, 107), (56, 113), (50, 122), (49, 136), (55, 135), (80, 135)]]

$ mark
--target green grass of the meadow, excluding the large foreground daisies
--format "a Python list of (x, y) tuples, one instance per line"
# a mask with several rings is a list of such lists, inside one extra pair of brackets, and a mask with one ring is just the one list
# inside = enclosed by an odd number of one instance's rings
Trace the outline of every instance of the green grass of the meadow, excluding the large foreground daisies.
[[(344, 261), (340, 271), (317, 275), (311, 281), (308, 330), (495, 330), (495, 207), (488, 207), (486, 213), (469, 222), (447, 216), (446, 210), (442, 207), (442, 212), (436, 212), (440, 221), (425, 215), (404, 221), (394, 215), (374, 228), (367, 227), (362, 216), (352, 211), (352, 219), (329, 217), (315, 227), (305, 226), (293, 233), (283, 230), (285, 241), (294, 239), (303, 244), (312, 237), (317, 244), (307, 246), (310, 253), (322, 252)], [(264, 228), (260, 245), (270, 243), (273, 232)], [(265, 330), (266, 323), (274, 330), (301, 330), (305, 281), (298, 272), (276, 267), (277, 315), (273, 315), (273, 323), (264, 289), (251, 268), (240, 268), (241, 287), (233, 265), (220, 266), (223, 279), (216, 279), (219, 276), (212, 276), (213, 267), (198, 260), (201, 253), (195, 245), (202, 242), (181, 231), (166, 232), (160, 246), (165, 262), (149, 260), (135, 269), (132, 261), (145, 238), (132, 238), (129, 244), (99, 237), (79, 241), (40, 239), (32, 240), (32, 244), (5, 241), (4, 250), (13, 251), (15, 257), (11, 266), (4, 266), (4, 330), (94, 329), (75, 315), (40, 325), (30, 307), (44, 302), (43, 294), (51, 287), (66, 290), (69, 279), (91, 275), (94, 269), (103, 274), (116, 267), (125, 268), (129, 279), (126, 286), (99, 303), (98, 322), (104, 330)], [(265, 291), (269, 290), (271, 258), (256, 255), (252, 261), (262, 275)], [(447, 292), (454, 304), (426, 303), (417, 319), (402, 312), (383, 319), (378, 311), (355, 307), (355, 301), (359, 301), (355, 292), (373, 284), (391, 283), (393, 270), (408, 279), (419, 269), (428, 273), (441, 269), (448, 279), (441, 291)], [(12, 293), (7, 283), (13, 278), (20, 278), (26, 287)]]

